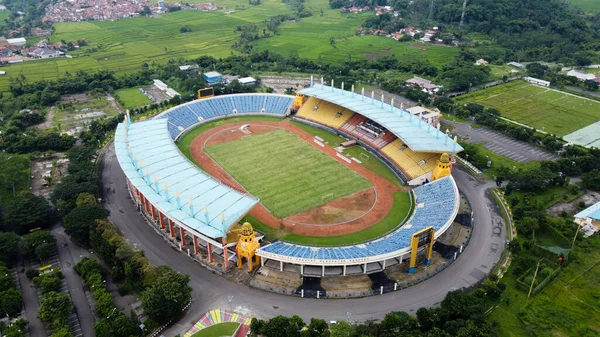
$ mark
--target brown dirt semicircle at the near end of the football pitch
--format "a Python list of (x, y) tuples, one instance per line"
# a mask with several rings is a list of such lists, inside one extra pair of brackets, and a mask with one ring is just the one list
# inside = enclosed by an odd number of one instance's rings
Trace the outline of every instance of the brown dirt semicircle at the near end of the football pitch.
[(299, 224), (313, 225), (350, 222), (369, 212), (376, 201), (375, 189), (369, 188), (285, 219)]

